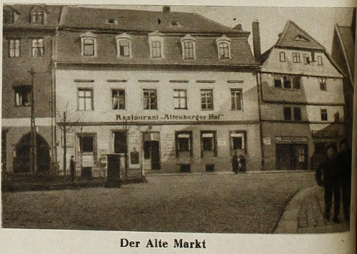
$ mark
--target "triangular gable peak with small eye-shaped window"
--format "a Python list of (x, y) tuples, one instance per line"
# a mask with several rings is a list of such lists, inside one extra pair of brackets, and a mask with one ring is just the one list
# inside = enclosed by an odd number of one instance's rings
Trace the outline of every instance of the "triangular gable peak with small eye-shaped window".
[(325, 47), (313, 39), (306, 31), (298, 27), (293, 21), (286, 23), (283, 33), (276, 42), (276, 46), (326, 50)]

